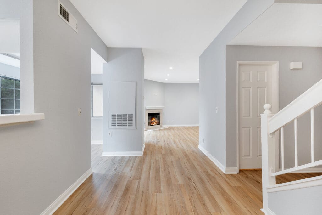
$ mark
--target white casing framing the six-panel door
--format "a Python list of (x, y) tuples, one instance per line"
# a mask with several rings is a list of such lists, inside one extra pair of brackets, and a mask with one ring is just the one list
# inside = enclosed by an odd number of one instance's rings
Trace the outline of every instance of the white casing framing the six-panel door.
[[(279, 112), (279, 62), (278, 61), (237, 61), (237, 92), (236, 92), (236, 122), (237, 122), (237, 129), (236, 129), (236, 137), (237, 137), (237, 170), (239, 172), (239, 66), (243, 65), (263, 65), (263, 66), (271, 66), (271, 89), (272, 89), (272, 113)], [(277, 131), (276, 134), (273, 136), (275, 142), (275, 159), (276, 159), (276, 168), (279, 169), (279, 132)]]

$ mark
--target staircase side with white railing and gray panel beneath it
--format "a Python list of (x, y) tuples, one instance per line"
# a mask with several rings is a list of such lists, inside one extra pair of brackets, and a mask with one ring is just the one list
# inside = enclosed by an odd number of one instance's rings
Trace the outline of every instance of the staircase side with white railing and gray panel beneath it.
[[(285, 108), (272, 114), (270, 104), (264, 105), (261, 114), (262, 144), (262, 191), (265, 214), (322, 214), (322, 176), (276, 184), (275, 177), (295, 171), (322, 165), (322, 160), (315, 159), (314, 147), (314, 109), (322, 103), (322, 80), (313, 85)], [(298, 118), (310, 112), (311, 162), (298, 165)], [(294, 122), (295, 166), (284, 168), (284, 126)], [(322, 132), (322, 131), (321, 131)], [(281, 170), (276, 169), (276, 140), (281, 147)]]

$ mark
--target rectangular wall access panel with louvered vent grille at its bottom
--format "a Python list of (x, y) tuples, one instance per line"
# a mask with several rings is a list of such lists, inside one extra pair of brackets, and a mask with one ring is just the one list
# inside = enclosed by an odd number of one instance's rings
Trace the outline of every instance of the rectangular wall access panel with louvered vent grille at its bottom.
[(109, 81), (109, 129), (136, 129), (136, 82)]

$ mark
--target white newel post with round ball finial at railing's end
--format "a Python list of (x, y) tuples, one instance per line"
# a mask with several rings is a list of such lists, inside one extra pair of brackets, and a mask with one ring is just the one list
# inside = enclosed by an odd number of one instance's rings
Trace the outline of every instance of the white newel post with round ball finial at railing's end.
[(270, 111), (272, 105), (264, 104), (264, 113), (261, 116), (261, 145), (262, 145), (262, 188), (263, 188), (263, 212), (267, 214), (268, 194), (266, 188), (275, 185), (275, 142), (273, 135), (268, 133), (269, 120), (274, 114)]

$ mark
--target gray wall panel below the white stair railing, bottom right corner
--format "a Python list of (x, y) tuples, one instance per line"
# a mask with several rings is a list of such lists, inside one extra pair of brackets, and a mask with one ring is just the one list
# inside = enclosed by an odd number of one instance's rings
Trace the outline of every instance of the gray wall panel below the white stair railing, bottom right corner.
[(317, 215), (322, 211), (322, 186), (268, 193), (268, 208), (276, 215)]

